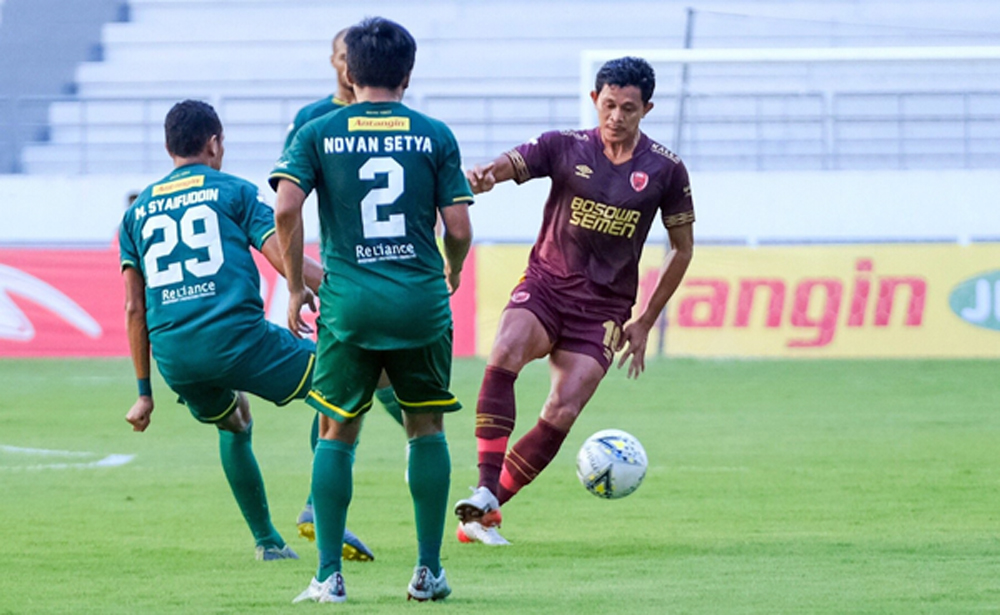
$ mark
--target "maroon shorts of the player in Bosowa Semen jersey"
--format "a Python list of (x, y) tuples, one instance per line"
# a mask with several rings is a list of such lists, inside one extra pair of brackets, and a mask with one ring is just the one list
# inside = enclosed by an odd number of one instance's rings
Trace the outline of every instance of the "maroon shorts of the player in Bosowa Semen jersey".
[(510, 294), (507, 308), (522, 308), (534, 314), (552, 342), (553, 350), (593, 357), (607, 372), (621, 338), (622, 317), (609, 317), (608, 310), (594, 309), (601, 300), (581, 301), (551, 290), (543, 281), (522, 280)]

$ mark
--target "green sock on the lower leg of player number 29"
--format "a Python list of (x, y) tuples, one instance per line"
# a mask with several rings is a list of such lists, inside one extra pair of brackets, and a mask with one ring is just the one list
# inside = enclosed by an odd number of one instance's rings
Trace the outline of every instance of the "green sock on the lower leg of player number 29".
[(242, 433), (219, 430), (222, 470), (256, 543), (263, 547), (283, 547), (285, 541), (271, 524), (264, 478), (251, 445), (252, 431), (252, 424)]

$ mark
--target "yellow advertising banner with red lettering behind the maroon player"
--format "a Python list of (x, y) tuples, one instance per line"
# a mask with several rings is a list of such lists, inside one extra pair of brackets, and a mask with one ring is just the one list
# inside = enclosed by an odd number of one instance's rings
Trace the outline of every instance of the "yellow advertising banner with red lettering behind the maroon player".
[[(488, 354), (529, 246), (477, 250)], [(665, 251), (647, 246), (639, 305)], [(696, 247), (650, 352), (699, 357), (998, 357), (1000, 244)]]

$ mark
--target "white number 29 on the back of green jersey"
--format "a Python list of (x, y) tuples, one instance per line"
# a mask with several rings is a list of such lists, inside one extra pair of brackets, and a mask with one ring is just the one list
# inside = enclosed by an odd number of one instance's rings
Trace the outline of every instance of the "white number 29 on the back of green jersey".
[[(196, 222), (201, 222), (202, 230), (195, 228)], [(180, 227), (179, 237), (178, 227)], [(142, 238), (149, 239), (156, 231), (163, 231), (163, 239), (152, 243), (143, 256), (146, 284), (150, 288), (176, 284), (184, 279), (180, 262), (174, 261), (166, 267), (160, 267), (160, 259), (174, 251), (178, 239), (190, 248), (208, 250), (208, 260), (189, 258), (184, 261), (184, 269), (191, 275), (203, 278), (214, 275), (222, 267), (225, 257), (222, 253), (222, 241), (219, 238), (219, 216), (208, 205), (195, 205), (188, 209), (179, 222), (175, 222), (166, 214), (153, 216), (142, 225)]]

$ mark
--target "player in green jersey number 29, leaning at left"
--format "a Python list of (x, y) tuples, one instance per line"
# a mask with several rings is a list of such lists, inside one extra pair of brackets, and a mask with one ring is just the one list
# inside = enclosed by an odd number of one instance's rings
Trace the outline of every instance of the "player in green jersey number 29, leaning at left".
[[(119, 230), (126, 326), (139, 384), (126, 420), (135, 431), (149, 427), (152, 350), (191, 414), (218, 427), (222, 467), (253, 533), (257, 559), (295, 558), (271, 523), (243, 391), (279, 405), (305, 397), (315, 346), (265, 319), (250, 246), (283, 270), (274, 212), (256, 186), (219, 171), (223, 132), (215, 110), (193, 100), (178, 103), (167, 114), (165, 132), (175, 168), (137, 196)], [(318, 287), (319, 263), (303, 262), (308, 284)], [(348, 556), (356, 550), (344, 546)]]

